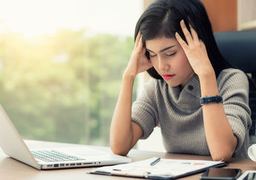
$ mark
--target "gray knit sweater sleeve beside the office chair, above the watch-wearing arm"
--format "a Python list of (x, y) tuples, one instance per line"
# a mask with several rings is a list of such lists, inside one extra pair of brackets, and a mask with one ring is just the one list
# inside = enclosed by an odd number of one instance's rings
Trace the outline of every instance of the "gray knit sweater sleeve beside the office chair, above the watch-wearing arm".
[(249, 82), (243, 71), (232, 68), (221, 71), (217, 81), (220, 95), (223, 97), (225, 114), (238, 140), (236, 150), (239, 150), (243, 145), (246, 132), (252, 125)]

